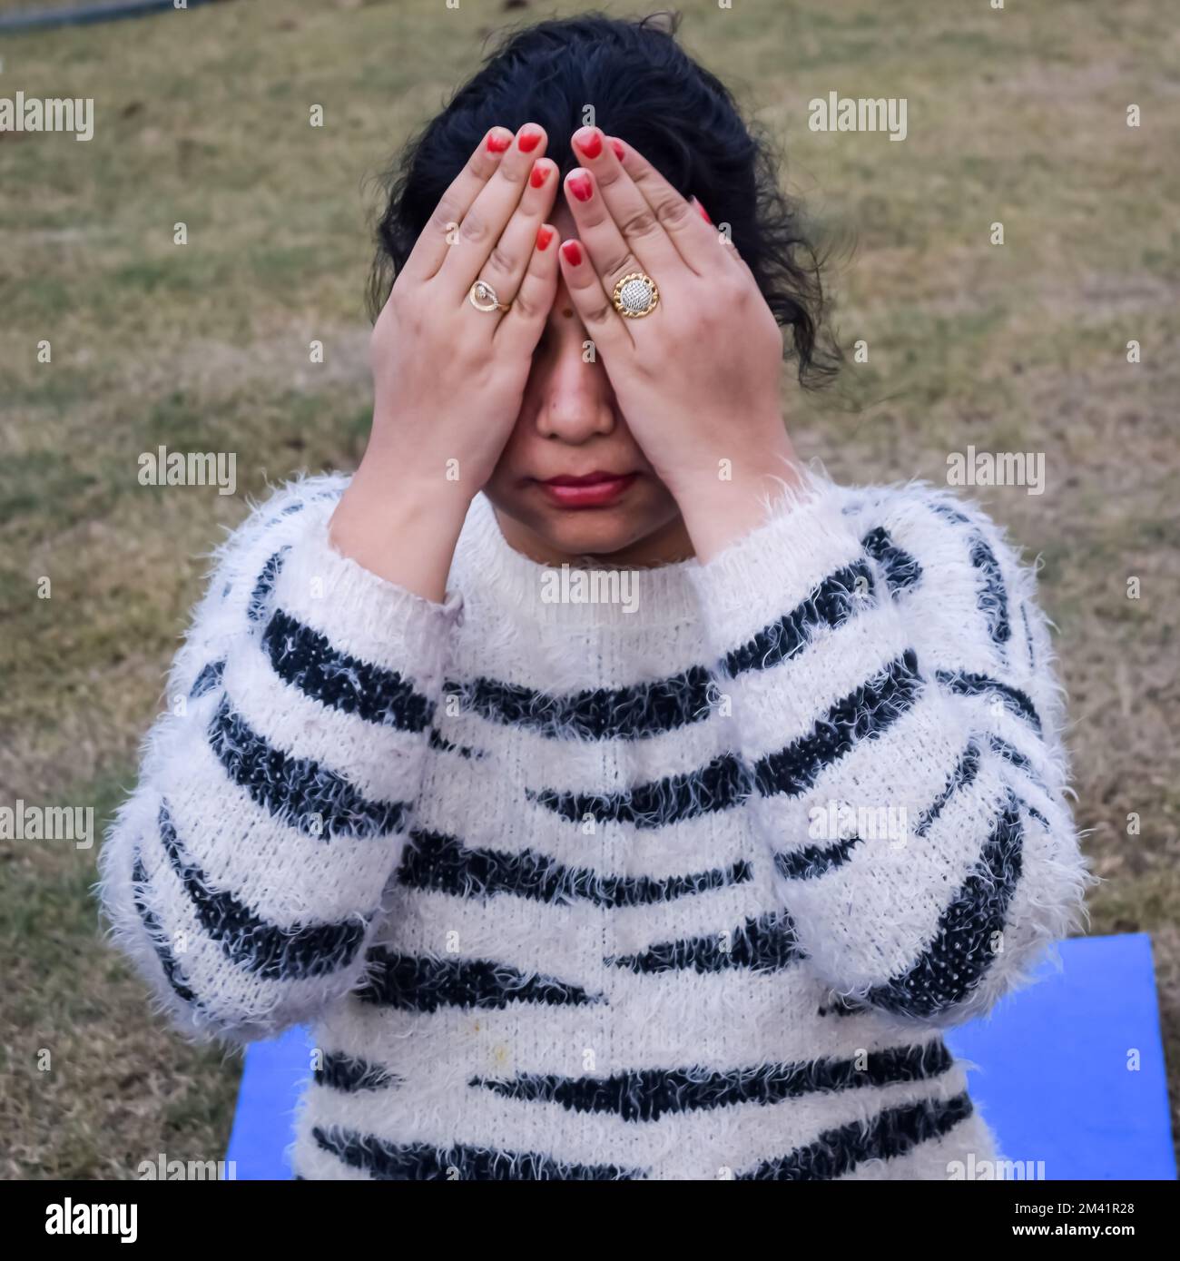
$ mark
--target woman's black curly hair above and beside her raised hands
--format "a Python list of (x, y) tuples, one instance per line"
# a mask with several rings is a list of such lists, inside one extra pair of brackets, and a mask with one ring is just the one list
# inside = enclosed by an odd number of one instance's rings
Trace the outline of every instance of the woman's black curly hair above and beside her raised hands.
[(821, 257), (783, 193), (769, 141), (732, 93), (676, 42), (680, 15), (593, 13), (504, 33), (483, 68), (402, 150), (385, 178), (369, 280), (376, 319), (439, 199), (489, 127), (545, 127), (562, 177), (579, 165), (571, 132), (593, 121), (638, 149), (685, 197), (696, 195), (734, 245), (782, 328), (799, 383), (824, 383), (841, 354), (826, 334)]

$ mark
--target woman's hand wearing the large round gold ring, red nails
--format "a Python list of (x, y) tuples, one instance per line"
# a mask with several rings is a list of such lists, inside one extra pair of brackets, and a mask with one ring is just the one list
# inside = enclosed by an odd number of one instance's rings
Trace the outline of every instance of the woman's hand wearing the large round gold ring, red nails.
[[(566, 177), (579, 241), (561, 270), (619, 410), (707, 560), (761, 518), (794, 454), (780, 412), (782, 333), (736, 248), (651, 163), (598, 127), (574, 134)], [(614, 305), (630, 272), (656, 282), (648, 315)]]

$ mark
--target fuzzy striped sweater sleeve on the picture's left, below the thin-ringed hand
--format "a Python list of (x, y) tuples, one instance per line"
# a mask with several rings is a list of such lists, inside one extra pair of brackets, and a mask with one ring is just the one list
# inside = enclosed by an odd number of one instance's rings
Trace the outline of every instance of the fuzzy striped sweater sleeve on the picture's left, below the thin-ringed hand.
[(343, 484), (284, 488), (219, 550), (101, 854), (115, 939), (197, 1038), (361, 980), (420, 791), (459, 596), (335, 552)]

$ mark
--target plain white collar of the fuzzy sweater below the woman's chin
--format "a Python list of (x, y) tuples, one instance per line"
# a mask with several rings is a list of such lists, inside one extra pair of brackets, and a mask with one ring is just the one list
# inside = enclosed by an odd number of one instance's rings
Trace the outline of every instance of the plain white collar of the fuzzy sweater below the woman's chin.
[(651, 629), (700, 617), (691, 574), (697, 560), (653, 569), (611, 567), (587, 557), (585, 566), (543, 565), (511, 547), (483, 493), (468, 511), (450, 588), (465, 605), (494, 607), (500, 617), (542, 625)]

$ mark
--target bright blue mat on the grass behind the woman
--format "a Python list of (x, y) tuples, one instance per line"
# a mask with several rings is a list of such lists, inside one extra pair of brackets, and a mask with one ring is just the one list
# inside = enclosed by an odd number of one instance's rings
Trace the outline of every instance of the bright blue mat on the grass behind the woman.
[[(1175, 1179), (1151, 939), (1060, 944), (1040, 980), (947, 1035), (1007, 1160), (1029, 1177)], [(303, 1028), (251, 1045), (227, 1160), (238, 1178), (290, 1178), (286, 1148), (311, 1040)]]

